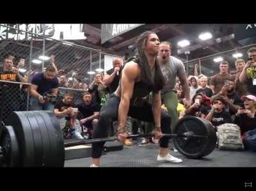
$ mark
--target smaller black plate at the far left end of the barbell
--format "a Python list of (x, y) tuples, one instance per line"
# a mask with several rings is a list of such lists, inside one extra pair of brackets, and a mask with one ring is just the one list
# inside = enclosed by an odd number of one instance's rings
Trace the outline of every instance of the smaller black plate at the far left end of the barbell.
[(19, 146), (13, 127), (5, 126), (2, 130), (0, 145), (6, 151), (2, 162), (5, 167), (20, 167)]

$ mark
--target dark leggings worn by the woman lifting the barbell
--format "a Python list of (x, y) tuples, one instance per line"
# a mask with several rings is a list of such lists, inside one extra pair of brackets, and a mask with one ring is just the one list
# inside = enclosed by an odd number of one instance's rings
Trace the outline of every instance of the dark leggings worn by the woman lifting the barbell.
[[(93, 139), (108, 137), (109, 127), (111, 123), (118, 118), (118, 107), (120, 98), (112, 94), (107, 103), (100, 109), (100, 117), (95, 130), (93, 130)], [(130, 104), (128, 116), (146, 122), (154, 122), (152, 105), (149, 102), (144, 102), (140, 107), (134, 107)], [(171, 117), (167, 112), (161, 111), (161, 130), (163, 134), (171, 134)], [(168, 148), (169, 139), (162, 137), (159, 141), (161, 148)], [(92, 158), (100, 158), (105, 142), (92, 144)]]

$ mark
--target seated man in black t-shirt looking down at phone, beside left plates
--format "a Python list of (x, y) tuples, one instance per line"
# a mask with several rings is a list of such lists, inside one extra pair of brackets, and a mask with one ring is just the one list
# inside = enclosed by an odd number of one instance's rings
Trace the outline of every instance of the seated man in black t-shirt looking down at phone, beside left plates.
[(72, 107), (73, 100), (74, 93), (65, 93), (63, 100), (60, 100), (54, 105), (54, 114), (60, 121), (64, 138), (76, 137), (77, 139), (84, 139), (81, 135), (80, 123), (76, 119), (78, 109)]

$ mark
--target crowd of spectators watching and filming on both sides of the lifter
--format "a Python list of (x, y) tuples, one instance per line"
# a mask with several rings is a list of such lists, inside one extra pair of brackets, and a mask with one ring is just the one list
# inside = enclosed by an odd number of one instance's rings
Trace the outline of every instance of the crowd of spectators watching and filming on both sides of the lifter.
[[(168, 46), (168, 44), (165, 44)], [(164, 55), (164, 53), (160, 53)], [(235, 63), (227, 61), (220, 62), (220, 72), (211, 77), (204, 74), (198, 75), (198, 65), (195, 65), (195, 74), (186, 77), (180, 77), (177, 72), (175, 87), (172, 93), (175, 93), (173, 99), (177, 99), (177, 118), (184, 116), (196, 116), (209, 121), (214, 128), (225, 123), (234, 123), (241, 129), (241, 137), (250, 130), (256, 128), (256, 47), (248, 50), (248, 61), (237, 59)], [(164, 56), (163, 56), (164, 57)], [(49, 65), (43, 72), (31, 72), (31, 86), (20, 84), (1, 83), (1, 102), (12, 102), (12, 111), (19, 111), (19, 104), (22, 100), (8, 101), (10, 93), (21, 94), (22, 91), (30, 93), (30, 110), (51, 110), (61, 121), (61, 128), (74, 128), (74, 135), (78, 139), (92, 137), (92, 130), (97, 125), (100, 107), (107, 102), (111, 93), (118, 86), (122, 66), (127, 61), (116, 58), (113, 60), (113, 68), (105, 74), (96, 73), (93, 81), (86, 84), (83, 80), (79, 80), (77, 71), (65, 73), (65, 70), (58, 70), (54, 64), (54, 56), (51, 57)], [(163, 60), (164, 61), (164, 60)], [(177, 60), (175, 60), (177, 61)], [(178, 62), (178, 61), (177, 61)], [(236, 66), (236, 73), (229, 73), (229, 65)], [(24, 66), (24, 59), (20, 59), (18, 65), (14, 65), (13, 56), (4, 59), (4, 67), (0, 71), (0, 80), (14, 82), (29, 82), (28, 73), (19, 72), (19, 68)], [(183, 66), (179, 66), (183, 67)], [(181, 80), (180, 80), (181, 79)], [(172, 80), (174, 82), (174, 80)], [(8, 87), (3, 95), (3, 84)], [(184, 86), (189, 86), (188, 92), (184, 93)], [(183, 85), (183, 86), (182, 86)], [(61, 89), (61, 88), (63, 89)], [(65, 89), (68, 88), (68, 89)], [(70, 93), (72, 89), (82, 90), (79, 93), (79, 103), (74, 103), (74, 93)], [(173, 109), (173, 105), (168, 105), (166, 95), (170, 89), (163, 93), (163, 109), (169, 112)], [(77, 92), (76, 92), (77, 93)], [(169, 93), (170, 94), (170, 93)], [(61, 96), (61, 99), (56, 100)], [(177, 98), (176, 98), (177, 96)], [(55, 99), (54, 99), (55, 98)], [(190, 104), (188, 104), (190, 101)], [(164, 105), (166, 103), (166, 105)], [(80, 113), (80, 116), (79, 116)], [(172, 113), (172, 112), (171, 112)], [(170, 114), (171, 115), (171, 114)], [(65, 119), (63, 121), (63, 119)], [(132, 119), (131, 119), (132, 120)], [(68, 123), (67, 123), (68, 121)], [(137, 121), (138, 122), (138, 121)], [(139, 121), (138, 123), (141, 123)], [(130, 126), (134, 121), (130, 121)], [(173, 124), (172, 124), (173, 125)], [(85, 130), (84, 127), (85, 126)], [(113, 125), (113, 128), (115, 125)], [(140, 125), (141, 130), (145, 131), (145, 125)], [(129, 133), (132, 134), (134, 128), (129, 127)], [(85, 134), (87, 132), (87, 134)], [(66, 132), (68, 134), (68, 132)], [(81, 136), (83, 135), (83, 136)], [(131, 142), (127, 141), (127, 145)]]

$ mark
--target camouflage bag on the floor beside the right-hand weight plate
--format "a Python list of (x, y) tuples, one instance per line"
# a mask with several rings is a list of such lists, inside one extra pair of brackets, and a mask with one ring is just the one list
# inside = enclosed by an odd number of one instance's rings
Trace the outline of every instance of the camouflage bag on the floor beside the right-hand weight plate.
[(225, 123), (218, 127), (218, 148), (227, 150), (243, 150), (240, 128), (236, 124)]

